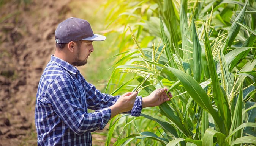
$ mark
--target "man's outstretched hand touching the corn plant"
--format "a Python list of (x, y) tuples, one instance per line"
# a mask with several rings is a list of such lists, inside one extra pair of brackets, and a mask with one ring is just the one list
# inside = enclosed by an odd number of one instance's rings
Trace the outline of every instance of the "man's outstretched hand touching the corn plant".
[(160, 104), (170, 100), (168, 95), (170, 97), (172, 97), (172, 95), (170, 92), (167, 95), (166, 94), (167, 91), (168, 90), (166, 87), (162, 89), (156, 89), (149, 96), (142, 98), (142, 108), (159, 106)]

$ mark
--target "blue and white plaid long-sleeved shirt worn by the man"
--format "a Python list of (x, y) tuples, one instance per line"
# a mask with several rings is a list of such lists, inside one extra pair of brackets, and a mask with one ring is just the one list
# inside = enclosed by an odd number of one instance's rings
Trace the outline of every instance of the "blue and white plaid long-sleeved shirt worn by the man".
[[(111, 116), (108, 107), (119, 97), (101, 93), (85, 81), (76, 67), (51, 56), (36, 94), (38, 146), (92, 145), (90, 132), (106, 126)], [(95, 112), (88, 113), (87, 108)], [(127, 113), (140, 115), (140, 96), (136, 97), (133, 109)]]

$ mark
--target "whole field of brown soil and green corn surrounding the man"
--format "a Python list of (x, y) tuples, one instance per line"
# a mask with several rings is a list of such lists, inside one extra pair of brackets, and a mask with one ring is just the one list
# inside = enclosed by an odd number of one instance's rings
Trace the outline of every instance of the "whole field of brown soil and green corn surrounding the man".
[(256, 144), (254, 0), (0, 0), (0, 146), (36, 145), (36, 90), (68, 17), (107, 36), (78, 68), (88, 82), (120, 95), (150, 73), (139, 95), (174, 96), (116, 116), (93, 145)]

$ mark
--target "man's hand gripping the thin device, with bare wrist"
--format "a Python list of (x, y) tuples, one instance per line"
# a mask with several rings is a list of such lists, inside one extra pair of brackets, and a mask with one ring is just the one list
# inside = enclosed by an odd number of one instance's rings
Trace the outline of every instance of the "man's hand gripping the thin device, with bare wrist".
[(111, 117), (113, 118), (115, 115), (123, 112), (128, 112), (133, 108), (133, 104), (135, 102), (136, 96), (138, 92), (126, 92), (121, 95), (115, 104), (110, 106), (111, 109)]

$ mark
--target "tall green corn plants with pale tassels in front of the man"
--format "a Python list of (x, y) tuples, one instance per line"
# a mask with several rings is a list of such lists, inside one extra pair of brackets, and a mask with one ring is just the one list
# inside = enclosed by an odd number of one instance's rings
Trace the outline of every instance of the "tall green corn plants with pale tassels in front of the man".
[[(117, 55), (120, 58), (106, 92), (131, 91), (150, 73), (151, 78), (139, 95), (146, 96), (166, 86), (173, 98), (159, 107), (143, 110), (138, 118), (115, 117), (110, 122), (106, 145), (111, 138), (115, 138), (114, 145), (256, 144), (256, 3), (131, 2), (136, 6), (133, 11), (120, 16), (141, 18), (133, 25), (137, 35), (126, 24), (122, 35), (130, 30), (130, 41), (137, 49)], [(136, 13), (145, 6), (147, 17)], [(154, 41), (159, 38), (163, 43), (155, 47)], [(152, 44), (150, 48), (145, 42)]]

